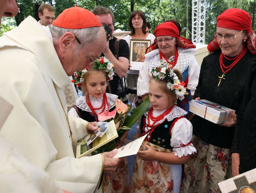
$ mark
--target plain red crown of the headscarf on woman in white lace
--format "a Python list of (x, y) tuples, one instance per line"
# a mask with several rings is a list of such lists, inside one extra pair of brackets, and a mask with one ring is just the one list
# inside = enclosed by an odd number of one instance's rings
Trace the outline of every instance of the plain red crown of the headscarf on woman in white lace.
[(180, 32), (178, 27), (173, 22), (169, 21), (159, 24), (154, 31), (154, 35), (156, 37), (160, 35), (168, 35), (177, 38), (180, 36)]

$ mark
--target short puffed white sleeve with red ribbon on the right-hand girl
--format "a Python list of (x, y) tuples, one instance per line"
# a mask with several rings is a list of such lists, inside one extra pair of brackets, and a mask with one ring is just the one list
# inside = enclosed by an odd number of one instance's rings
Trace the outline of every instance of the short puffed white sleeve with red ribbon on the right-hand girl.
[(172, 128), (171, 146), (175, 156), (186, 156), (196, 152), (196, 148), (191, 143), (193, 127), (186, 118), (179, 119)]

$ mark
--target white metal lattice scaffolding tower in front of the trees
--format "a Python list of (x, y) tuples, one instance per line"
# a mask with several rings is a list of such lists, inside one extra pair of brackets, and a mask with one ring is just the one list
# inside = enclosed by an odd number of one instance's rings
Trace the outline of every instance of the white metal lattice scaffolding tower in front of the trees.
[(192, 1), (192, 42), (205, 43), (206, 0)]

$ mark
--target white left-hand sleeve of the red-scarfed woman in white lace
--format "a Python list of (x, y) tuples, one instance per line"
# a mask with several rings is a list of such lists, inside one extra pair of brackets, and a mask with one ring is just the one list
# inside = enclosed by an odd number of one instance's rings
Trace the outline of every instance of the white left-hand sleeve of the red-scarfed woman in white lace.
[(142, 96), (149, 93), (149, 69), (146, 60), (142, 68), (139, 70), (139, 77), (137, 82), (137, 95)]

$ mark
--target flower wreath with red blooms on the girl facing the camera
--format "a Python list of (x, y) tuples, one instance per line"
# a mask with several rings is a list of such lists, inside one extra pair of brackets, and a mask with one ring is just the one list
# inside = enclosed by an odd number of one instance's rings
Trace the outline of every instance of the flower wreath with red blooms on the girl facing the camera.
[[(113, 76), (115, 75), (115, 69), (114, 69), (114, 65), (107, 60), (107, 58), (104, 57), (100, 57), (96, 60), (96, 62), (94, 63), (94, 66), (92, 67), (92, 70), (95, 69), (102, 69), (104, 70), (104, 72), (107, 73), (107, 79), (108, 80), (113, 80)], [(84, 82), (84, 75), (86, 74), (87, 70), (83, 69), (82, 71), (79, 72), (75, 72), (74, 73), (74, 78), (73, 80), (71, 80), (71, 82), (73, 82), (74, 84), (76, 84), (77, 87), (81, 87), (81, 82)]]

